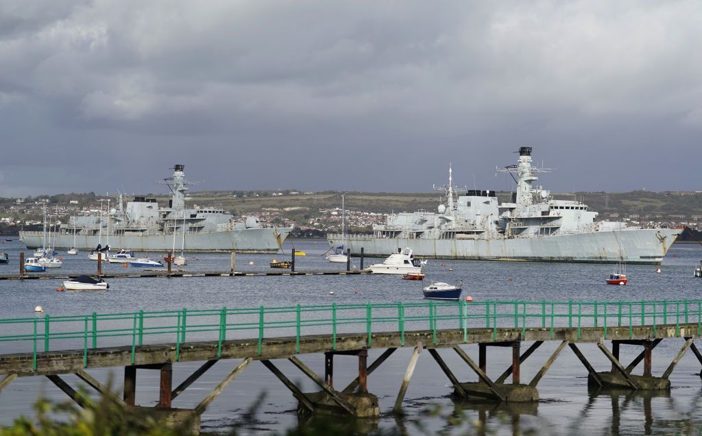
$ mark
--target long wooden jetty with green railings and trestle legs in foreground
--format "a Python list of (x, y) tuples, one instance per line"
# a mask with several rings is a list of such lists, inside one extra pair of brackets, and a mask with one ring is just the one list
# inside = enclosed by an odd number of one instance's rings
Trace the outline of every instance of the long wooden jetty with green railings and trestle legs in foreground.
[[(393, 408), (396, 412), (402, 411), (405, 392), (423, 350), (449, 379), (455, 397), (522, 404), (538, 400), (538, 383), (566, 349), (582, 362), (588, 373), (588, 383), (593, 387), (634, 392), (667, 391), (670, 374), (688, 349), (702, 364), (702, 354), (694, 344), (694, 339), (701, 336), (702, 300), (430, 301), (44, 315), (0, 319), (0, 343), (11, 342), (15, 347), (26, 349), (0, 355), (0, 375), (4, 375), (0, 391), (17, 377), (46, 376), (82, 404), (81, 395), (61, 378), (62, 374), (76, 374), (122, 407), (137, 407), (137, 369), (152, 369), (160, 371), (161, 375), (159, 404), (154, 413), (171, 422), (199, 421), (199, 415), (208, 404), (246, 366), (259, 361), (298, 399), (298, 410), (302, 414), (375, 418), (380, 409), (377, 397), (368, 391), (367, 378), (398, 348), (412, 348), (413, 352), (399, 383)], [(651, 373), (653, 351), (661, 341), (672, 338), (683, 338), (682, 348), (663, 374), (654, 376)], [(531, 380), (522, 383), (520, 365), (533, 359), (534, 351), (547, 341), (557, 342), (557, 348)], [(53, 345), (56, 343), (60, 348)], [(522, 343), (529, 343), (527, 350), (522, 351)], [(611, 369), (596, 371), (578, 348), (581, 343), (597, 344), (611, 362)], [(478, 345), (477, 362), (462, 348), (465, 344)], [(621, 346), (642, 347), (642, 351), (626, 364), (619, 359)], [(487, 376), (489, 348), (510, 350), (512, 356), (512, 364), (494, 379)], [(369, 364), (370, 349), (383, 352)], [(477, 380), (459, 380), (444, 361), (447, 350), (456, 352)], [(303, 354), (324, 357), (323, 376), (315, 374), (296, 357)], [(358, 359), (358, 375), (350, 385), (334, 385), (335, 356)], [(213, 365), (226, 359), (241, 360), (199, 404), (187, 409), (173, 408), (173, 399)], [(319, 391), (302, 392), (274, 363), (279, 359), (289, 360), (319, 386)], [(173, 365), (178, 362), (203, 364), (173, 388)], [(642, 362), (641, 374), (633, 374)], [(121, 397), (107, 392), (87, 372), (120, 366), (124, 367)], [(197, 431), (197, 425), (193, 431)]]

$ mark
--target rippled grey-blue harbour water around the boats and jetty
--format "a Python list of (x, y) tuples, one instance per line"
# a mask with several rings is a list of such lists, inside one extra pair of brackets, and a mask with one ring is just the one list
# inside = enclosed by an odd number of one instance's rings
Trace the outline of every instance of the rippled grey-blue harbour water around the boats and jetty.
[[(326, 242), (296, 242), (307, 256), (296, 258), (296, 270), (343, 270), (345, 264), (326, 262), (322, 253)], [(237, 270), (268, 270), (272, 258), (289, 258), (290, 244), (286, 243), (284, 255), (237, 255)], [(0, 265), (0, 273), (18, 270), (18, 253), (22, 245), (18, 241), (5, 242), (0, 251), (11, 256), (10, 265)], [(25, 253), (29, 256), (29, 253)], [(152, 253), (159, 258), (161, 253)], [(567, 263), (503, 263), (469, 262), (460, 260), (430, 260), (426, 271), (428, 278), (437, 281), (457, 282), (463, 280), (464, 295), (474, 300), (652, 300), (701, 298), (699, 292), (702, 279), (696, 279), (692, 270), (702, 258), (698, 245), (673, 246), (661, 266), (629, 266), (630, 283), (627, 286), (607, 286), (604, 277), (611, 265), (578, 265)], [(94, 272), (95, 263), (87, 260), (87, 253), (78, 256), (63, 256), (64, 266), (52, 272)], [(376, 259), (366, 259), (366, 265)], [(230, 256), (218, 253), (197, 253), (189, 256), (190, 271), (228, 270)], [(352, 260), (356, 265), (357, 258)], [(442, 267), (441, 263), (445, 265)], [(251, 265), (249, 264), (251, 263)], [(105, 265), (106, 271), (124, 272), (121, 265)], [(453, 271), (449, 271), (449, 268)], [(133, 269), (133, 268), (131, 268)], [(33, 317), (35, 305), (44, 307), (51, 315), (83, 315), (90, 312), (131, 312), (133, 310), (166, 309), (215, 309), (249, 308), (258, 305), (283, 306), (323, 303), (365, 303), (421, 301), (421, 282), (409, 282), (399, 277), (383, 275), (363, 276), (304, 276), (304, 277), (194, 277), (187, 279), (110, 279), (110, 290), (105, 292), (80, 293), (56, 292), (60, 280), (31, 280), (24, 282), (0, 281), (0, 318)], [(333, 295), (330, 294), (333, 291)], [(6, 326), (0, 326), (0, 335), (8, 334)], [(664, 341), (654, 350), (654, 373), (661, 374), (682, 346), (682, 339)], [(0, 344), (4, 352), (15, 350), (19, 345)], [(522, 365), (522, 381), (529, 381), (543, 362), (555, 350), (557, 343), (545, 343)], [(585, 355), (597, 370), (609, 369), (609, 362), (595, 345), (581, 346)], [(477, 359), (477, 345), (469, 345), (467, 352)], [(623, 346), (621, 359), (633, 359), (640, 348)], [(371, 350), (370, 360), (382, 350)], [(369, 390), (378, 395), (381, 411), (390, 411), (399, 385), (404, 376), (411, 350), (398, 350), (378, 370), (369, 376)], [(462, 381), (475, 381), (465, 364), (455, 353), (442, 350), (442, 357)], [(321, 355), (300, 357), (318, 374), (324, 372)], [(174, 407), (193, 407), (209, 390), (228, 374), (237, 361), (223, 361), (208, 371), (174, 402)], [(293, 381), (299, 381), (305, 390), (317, 390), (303, 378), (289, 362), (277, 362)], [(488, 373), (496, 377), (510, 364), (508, 350), (490, 349)], [(174, 365), (173, 383), (180, 383), (197, 369), (199, 364)], [(568, 349), (538, 385), (541, 401), (538, 404), (518, 408), (498, 408), (491, 405), (465, 404), (463, 410), (468, 422), (482, 420), (489, 432), (510, 434), (536, 429), (543, 434), (587, 433), (670, 433), (702, 428), (702, 412), (697, 407), (702, 393), (701, 379), (696, 375), (700, 364), (688, 352), (671, 376), (673, 389), (669, 395), (646, 397), (643, 395), (596, 395), (588, 394), (587, 372)], [(352, 381), (357, 371), (355, 357), (335, 359), (335, 385)], [(111, 371), (93, 370), (91, 374), (107, 381)], [(121, 379), (121, 372), (112, 371)], [(77, 379), (66, 376), (76, 385)], [(142, 370), (138, 373), (137, 402), (153, 405), (157, 402), (158, 372)], [(422, 411), (439, 405), (444, 414), (453, 410), (448, 395), (450, 383), (437, 364), (426, 353), (420, 355), (418, 365), (405, 398), (405, 409), (409, 412), (406, 421), (396, 421), (392, 416), (383, 416), (378, 428), (407, 425), (410, 432), (418, 432), (411, 423), (420, 418), (430, 430), (446, 430), (447, 423), (441, 416), (428, 418)], [(258, 362), (253, 362), (225, 392), (211, 404), (202, 416), (203, 430), (226, 430), (241, 419), (241, 414), (256, 399), (265, 393), (265, 400), (254, 423), (246, 425), (250, 433), (282, 431), (297, 423), (296, 401), (277, 378), (274, 378)], [(32, 403), (38, 395), (63, 400), (53, 384), (44, 378), (21, 378), (0, 394), (0, 423), (8, 423), (16, 416), (32, 415)], [(463, 432), (465, 427), (456, 432)]]

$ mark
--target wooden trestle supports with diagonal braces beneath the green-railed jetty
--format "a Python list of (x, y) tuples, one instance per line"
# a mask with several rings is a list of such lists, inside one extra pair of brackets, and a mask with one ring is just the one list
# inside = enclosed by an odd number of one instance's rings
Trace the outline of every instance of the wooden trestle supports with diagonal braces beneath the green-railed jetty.
[[(651, 355), (656, 346), (661, 343), (662, 339), (654, 340), (615, 340), (612, 342), (611, 351), (600, 340), (597, 342), (597, 348), (611, 362), (611, 370), (605, 372), (597, 372), (592, 367), (588, 359), (585, 358), (583, 352), (578, 348), (577, 341), (564, 340), (557, 345), (554, 352), (548, 357), (546, 362), (541, 366), (541, 369), (536, 373), (534, 378), (528, 384), (521, 383), (520, 365), (524, 363), (534, 352), (543, 344), (543, 341), (534, 341), (529, 348), (523, 353), (520, 353), (522, 341), (503, 341), (478, 343), (478, 362), (477, 364), (459, 345), (444, 345), (443, 348), (453, 348), (453, 351), (467, 364), (470, 369), (477, 375), (477, 382), (461, 382), (455, 374), (449, 369), (449, 366), (444, 362), (444, 359), (439, 355), (441, 345), (430, 345), (425, 347), (422, 342), (418, 341), (413, 348), (406, 373), (400, 385), (397, 399), (393, 411), (397, 414), (402, 414), (402, 402), (409, 387), (409, 383), (413, 376), (415, 366), (418, 362), (420, 353), (426, 348), (428, 354), (437, 362), (439, 368), (444, 372), (451, 384), (453, 385), (453, 395), (457, 399), (477, 400), (480, 403), (484, 402), (503, 402), (503, 403), (529, 403), (538, 401), (538, 390), (536, 389), (539, 381), (545, 375), (546, 371), (555, 362), (561, 352), (568, 346), (583, 363), (588, 371), (588, 386), (600, 390), (658, 390), (665, 391), (670, 389), (670, 374), (672, 374), (675, 366), (680, 361), (687, 349), (691, 349), (702, 364), (702, 353), (696, 348), (692, 337), (685, 337), (685, 343), (681, 350), (677, 353), (668, 369), (665, 370), (662, 376), (656, 377), (651, 374)], [(623, 366), (619, 360), (619, 349), (621, 345), (637, 345), (642, 346), (644, 350), (628, 366)], [(512, 364), (503, 371), (495, 380), (487, 376), (487, 348), (511, 348), (512, 349)], [(293, 396), (298, 400), (298, 413), (300, 416), (310, 416), (312, 414), (343, 414), (357, 418), (378, 418), (380, 416), (380, 408), (378, 407), (378, 397), (373, 395), (368, 390), (367, 379), (378, 367), (385, 362), (397, 348), (387, 348), (380, 356), (378, 356), (370, 365), (368, 361), (368, 350), (344, 350), (344, 351), (329, 351), (324, 352), (324, 378), (318, 376), (295, 355), (289, 355), (286, 358), (294, 366), (296, 366), (307, 378), (310, 378), (321, 390), (317, 392), (303, 392), (295, 385), (270, 359), (260, 359), (260, 362), (271, 371), (285, 386)], [(358, 358), (358, 376), (342, 390), (335, 390), (333, 379), (333, 363), (336, 355), (355, 356)], [(137, 370), (158, 370), (160, 371), (159, 383), (159, 402), (152, 409), (153, 413), (158, 418), (163, 419), (171, 425), (180, 425), (183, 432), (199, 432), (200, 415), (206, 410), (209, 404), (220, 395), (223, 390), (229, 385), (234, 378), (253, 361), (252, 357), (246, 357), (227, 376), (221, 381), (216, 388), (204, 397), (193, 409), (176, 409), (173, 408), (173, 399), (176, 399), (182, 394), (194, 381), (197, 381), (203, 374), (211, 369), (219, 359), (212, 359), (204, 362), (196, 371), (188, 376), (185, 381), (180, 383), (173, 389), (173, 367), (171, 363), (163, 364), (142, 364), (126, 366), (124, 368), (124, 392), (120, 398), (113, 392), (101, 385), (95, 378), (88, 374), (83, 369), (79, 369), (74, 374), (84, 381), (91, 388), (105, 395), (110, 401), (117, 404), (119, 407), (140, 407), (135, 404), (135, 392), (137, 386)], [(632, 371), (638, 364), (644, 362), (642, 375), (632, 374)], [(702, 371), (699, 374), (702, 377)], [(46, 375), (62, 392), (65, 392), (81, 407), (84, 407), (86, 398), (77, 390), (74, 390), (66, 381), (59, 375)], [(17, 374), (8, 374), (0, 380), (0, 391), (6, 388), (17, 378)], [(511, 383), (505, 381), (511, 378)], [(183, 427), (185, 425), (185, 427)]]

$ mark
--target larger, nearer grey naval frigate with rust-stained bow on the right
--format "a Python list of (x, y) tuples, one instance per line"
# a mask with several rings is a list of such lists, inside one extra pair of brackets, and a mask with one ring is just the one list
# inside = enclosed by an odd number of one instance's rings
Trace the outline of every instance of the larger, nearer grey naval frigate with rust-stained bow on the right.
[[(554, 199), (532, 186), (548, 169), (531, 164), (531, 147), (519, 148), (517, 165), (498, 168), (517, 183), (510, 202), (498, 203), (491, 190), (460, 190), (449, 185), (437, 211), (392, 213), (373, 234), (328, 234), (332, 247), (353, 256), (388, 256), (411, 248), (423, 258), (524, 260), (539, 262), (659, 265), (682, 229), (627, 227), (595, 220), (583, 202)], [(516, 177), (515, 177), (516, 176)]]

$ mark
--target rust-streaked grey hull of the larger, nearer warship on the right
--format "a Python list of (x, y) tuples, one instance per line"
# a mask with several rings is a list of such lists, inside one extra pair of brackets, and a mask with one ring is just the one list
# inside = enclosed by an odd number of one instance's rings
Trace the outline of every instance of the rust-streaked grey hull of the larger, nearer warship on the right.
[(632, 229), (532, 238), (402, 239), (362, 234), (329, 234), (331, 246), (344, 244), (352, 256), (387, 257), (411, 248), (420, 258), (521, 260), (532, 262), (626, 263), (660, 265), (682, 229)]

